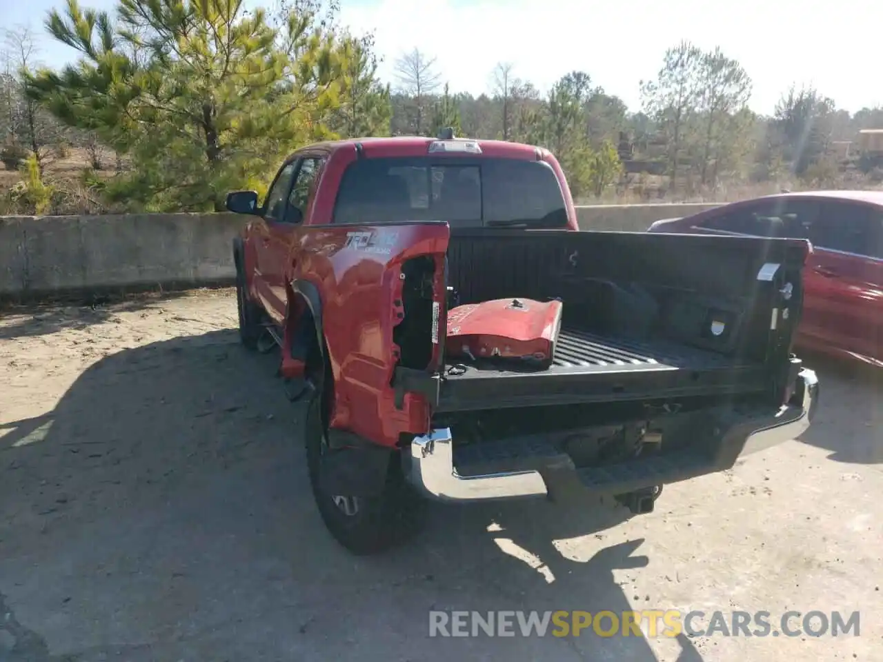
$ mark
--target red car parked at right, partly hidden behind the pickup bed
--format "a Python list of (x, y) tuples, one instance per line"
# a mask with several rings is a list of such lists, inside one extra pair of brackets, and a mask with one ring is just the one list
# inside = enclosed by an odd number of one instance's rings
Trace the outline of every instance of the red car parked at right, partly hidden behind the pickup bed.
[(781, 193), (657, 221), (648, 231), (808, 239), (796, 344), (883, 365), (883, 192)]

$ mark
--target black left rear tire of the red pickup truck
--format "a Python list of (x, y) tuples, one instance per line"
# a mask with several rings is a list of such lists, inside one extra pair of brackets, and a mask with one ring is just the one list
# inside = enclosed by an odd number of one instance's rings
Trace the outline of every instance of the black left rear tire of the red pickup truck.
[(359, 556), (404, 543), (419, 531), (426, 502), (405, 481), (398, 455), (391, 457), (386, 485), (378, 496), (343, 497), (345, 501), (341, 501), (340, 495), (322, 488), (319, 467), (325, 452), (328, 420), (325, 400), (321, 393), (313, 395), (307, 404), (304, 424), (310, 485), (322, 522), (338, 543)]

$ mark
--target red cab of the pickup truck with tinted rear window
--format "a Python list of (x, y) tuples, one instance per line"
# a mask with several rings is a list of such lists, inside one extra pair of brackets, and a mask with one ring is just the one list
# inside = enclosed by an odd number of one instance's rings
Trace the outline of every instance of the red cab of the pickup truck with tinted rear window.
[[(525, 207), (525, 200), (532, 207)], [(578, 229), (570, 189), (552, 154), (494, 140), (320, 143), (283, 162), (262, 206), (253, 192), (234, 193), (228, 204), (260, 216), (245, 228), (245, 274), (255, 301), (277, 324), (288, 303), (286, 276), (298, 271), (291, 265), (292, 242), (308, 229), (348, 226), (351, 242), (357, 243), (371, 238), (355, 234), (358, 227), (377, 223)]]

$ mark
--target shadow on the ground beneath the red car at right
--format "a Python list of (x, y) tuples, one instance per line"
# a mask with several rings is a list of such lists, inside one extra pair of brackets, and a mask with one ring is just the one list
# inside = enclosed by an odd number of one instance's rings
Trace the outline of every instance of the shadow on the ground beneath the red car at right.
[(883, 370), (805, 351), (800, 356), (819, 375), (819, 412), (800, 440), (830, 451), (836, 462), (883, 463)]

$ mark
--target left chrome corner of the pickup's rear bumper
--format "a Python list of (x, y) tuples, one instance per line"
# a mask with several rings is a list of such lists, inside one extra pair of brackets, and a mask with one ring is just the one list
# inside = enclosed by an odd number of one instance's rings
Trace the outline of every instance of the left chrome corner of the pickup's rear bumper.
[(511, 471), (486, 476), (459, 476), (454, 467), (450, 429), (440, 428), (411, 442), (411, 483), (443, 501), (478, 501), (545, 496), (538, 471)]

